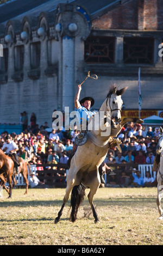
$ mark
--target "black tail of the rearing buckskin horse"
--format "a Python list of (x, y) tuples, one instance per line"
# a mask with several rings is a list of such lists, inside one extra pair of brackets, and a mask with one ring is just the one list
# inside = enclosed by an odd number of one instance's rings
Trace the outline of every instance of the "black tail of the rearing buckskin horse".
[(70, 220), (76, 221), (79, 206), (82, 204), (85, 196), (85, 186), (80, 183), (78, 186), (74, 186), (71, 192), (71, 215)]

